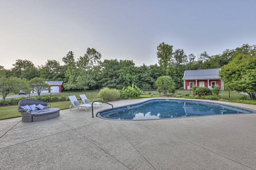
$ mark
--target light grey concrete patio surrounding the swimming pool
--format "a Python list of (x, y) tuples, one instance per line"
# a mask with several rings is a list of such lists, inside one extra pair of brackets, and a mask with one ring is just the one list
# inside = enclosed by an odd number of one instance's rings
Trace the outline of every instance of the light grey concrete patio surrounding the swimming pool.
[[(110, 102), (114, 107), (148, 99)], [(218, 102), (256, 110), (256, 106)], [(94, 112), (109, 108), (94, 108)], [(92, 118), (92, 108), (54, 119), (0, 120), (0, 169), (256, 169), (256, 114), (149, 121)]]

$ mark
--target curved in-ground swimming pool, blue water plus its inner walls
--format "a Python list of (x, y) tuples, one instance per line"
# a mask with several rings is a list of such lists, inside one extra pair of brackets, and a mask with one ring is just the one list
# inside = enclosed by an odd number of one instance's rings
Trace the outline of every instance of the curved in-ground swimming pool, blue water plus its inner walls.
[(222, 104), (184, 100), (150, 100), (142, 104), (100, 113), (101, 117), (119, 120), (165, 119), (202, 115), (252, 113), (253, 111)]

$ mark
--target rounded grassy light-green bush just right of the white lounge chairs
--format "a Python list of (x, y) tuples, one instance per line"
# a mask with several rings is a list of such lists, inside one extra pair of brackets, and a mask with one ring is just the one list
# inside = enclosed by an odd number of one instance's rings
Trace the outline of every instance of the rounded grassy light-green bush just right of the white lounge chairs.
[(116, 89), (101, 89), (98, 96), (105, 101), (115, 101), (120, 99), (120, 92)]

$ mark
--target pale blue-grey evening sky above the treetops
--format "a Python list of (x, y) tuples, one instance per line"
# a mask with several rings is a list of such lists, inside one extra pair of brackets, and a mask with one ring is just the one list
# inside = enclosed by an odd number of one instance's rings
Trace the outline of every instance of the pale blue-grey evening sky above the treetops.
[(222, 54), (256, 44), (256, 0), (0, 0), (0, 66), (77, 60), (87, 48), (105, 59), (158, 63), (164, 42), (186, 55)]

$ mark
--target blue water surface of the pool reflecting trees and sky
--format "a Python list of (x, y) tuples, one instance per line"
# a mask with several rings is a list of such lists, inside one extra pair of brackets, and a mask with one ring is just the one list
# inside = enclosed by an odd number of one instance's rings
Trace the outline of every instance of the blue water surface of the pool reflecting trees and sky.
[[(202, 115), (234, 114), (237, 111), (223, 107), (190, 102), (154, 101), (131, 109), (106, 113), (102, 117), (110, 119), (142, 120)], [(241, 113), (241, 112), (240, 112)]]

